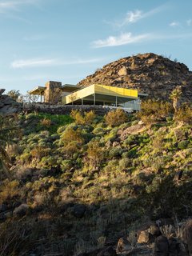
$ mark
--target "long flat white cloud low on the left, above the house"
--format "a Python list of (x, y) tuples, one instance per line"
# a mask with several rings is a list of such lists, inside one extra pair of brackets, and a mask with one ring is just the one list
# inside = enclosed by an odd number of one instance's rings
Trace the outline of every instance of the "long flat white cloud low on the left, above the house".
[(14, 69), (19, 68), (30, 68), (39, 66), (64, 66), (64, 65), (78, 65), (78, 64), (88, 64), (94, 62), (101, 62), (103, 58), (90, 58), (90, 59), (74, 59), (69, 61), (62, 61), (56, 58), (30, 58), (30, 59), (20, 59), (12, 62), (10, 66)]

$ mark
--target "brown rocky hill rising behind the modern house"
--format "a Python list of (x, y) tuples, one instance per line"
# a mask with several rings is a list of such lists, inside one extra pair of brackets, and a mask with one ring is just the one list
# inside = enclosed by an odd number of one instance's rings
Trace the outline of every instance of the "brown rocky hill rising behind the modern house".
[(182, 100), (192, 97), (192, 72), (188, 67), (157, 54), (138, 54), (111, 62), (87, 76), (78, 86), (102, 83), (137, 88), (153, 98), (168, 99), (175, 86), (182, 86)]

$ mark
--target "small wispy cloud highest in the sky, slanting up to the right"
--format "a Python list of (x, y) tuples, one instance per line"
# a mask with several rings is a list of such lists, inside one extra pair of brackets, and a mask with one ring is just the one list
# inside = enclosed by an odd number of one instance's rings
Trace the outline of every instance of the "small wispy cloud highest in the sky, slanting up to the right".
[(158, 6), (157, 8), (154, 8), (152, 10), (149, 10), (147, 12), (144, 12), (143, 10), (130, 10), (126, 13), (126, 17), (118, 22), (110, 22), (110, 24), (116, 26), (116, 27), (122, 27), (129, 25), (131, 23), (138, 22), (142, 18), (150, 17), (154, 14), (157, 14), (165, 9), (165, 6)]

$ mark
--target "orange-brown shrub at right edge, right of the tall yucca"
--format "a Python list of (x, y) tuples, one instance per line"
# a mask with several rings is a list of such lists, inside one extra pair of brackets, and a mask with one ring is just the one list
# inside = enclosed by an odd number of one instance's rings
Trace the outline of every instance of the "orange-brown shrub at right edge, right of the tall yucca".
[(192, 123), (192, 108), (190, 106), (181, 106), (174, 114), (174, 121)]

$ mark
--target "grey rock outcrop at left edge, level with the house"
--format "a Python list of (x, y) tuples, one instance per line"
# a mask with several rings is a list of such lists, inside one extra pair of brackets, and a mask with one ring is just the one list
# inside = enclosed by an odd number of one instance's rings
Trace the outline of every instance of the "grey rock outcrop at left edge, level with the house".
[(22, 110), (22, 104), (15, 102), (10, 96), (3, 94), (5, 89), (0, 89), (0, 114), (15, 114)]

